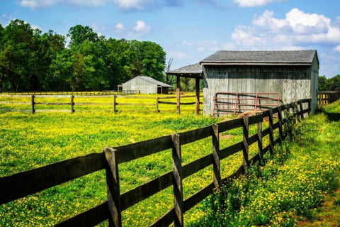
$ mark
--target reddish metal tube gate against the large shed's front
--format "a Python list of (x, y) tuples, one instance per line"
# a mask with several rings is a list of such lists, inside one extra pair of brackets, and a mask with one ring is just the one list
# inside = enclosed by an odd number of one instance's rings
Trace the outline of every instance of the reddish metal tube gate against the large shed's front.
[(280, 105), (280, 94), (273, 92), (217, 92), (212, 116), (261, 111)]

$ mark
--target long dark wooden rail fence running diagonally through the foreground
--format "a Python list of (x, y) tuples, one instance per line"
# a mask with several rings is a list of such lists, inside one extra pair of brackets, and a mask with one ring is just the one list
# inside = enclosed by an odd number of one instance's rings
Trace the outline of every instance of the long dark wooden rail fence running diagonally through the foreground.
[[(261, 161), (263, 155), (268, 151), (271, 154), (273, 153), (274, 145), (280, 143), (285, 137), (283, 135), (284, 110), (292, 112), (295, 120), (297, 118), (300, 121), (300, 118), (310, 114), (310, 101), (310, 99), (304, 99), (278, 106), (274, 109), (268, 109), (249, 118), (237, 118), (192, 131), (174, 133), (116, 148), (107, 147), (103, 150), (103, 153), (92, 153), (26, 172), (19, 172), (8, 177), (1, 177), (0, 188), (2, 193), (0, 194), (0, 204), (5, 204), (23, 196), (40, 192), (43, 189), (68, 182), (71, 179), (105, 169), (108, 200), (88, 211), (84, 211), (84, 213), (57, 223), (56, 226), (95, 226), (107, 219), (109, 226), (122, 226), (122, 211), (171, 186), (174, 189), (174, 206), (164, 216), (159, 217), (157, 221), (152, 223), (151, 226), (169, 226), (173, 222), (174, 226), (183, 226), (183, 214), (210, 195), (214, 188), (220, 187), (222, 184), (241, 175), (246, 175), (248, 168)], [(307, 109), (302, 109), (302, 104), (304, 103), (308, 104), (303, 105), (308, 106)], [(273, 123), (274, 114), (278, 116), (276, 123)], [(262, 122), (263, 118), (266, 117), (268, 117), (269, 126), (263, 129)], [(254, 124), (257, 124), (257, 133), (249, 135), (249, 126)], [(220, 133), (234, 128), (243, 128), (243, 140), (227, 148), (220, 148)], [(274, 139), (276, 129), (278, 129), (278, 138)], [(263, 148), (262, 140), (266, 135), (269, 136), (269, 145)], [(187, 165), (182, 165), (181, 146), (208, 137), (212, 138), (212, 153)], [(254, 157), (249, 158), (249, 146), (254, 143), (258, 144), (259, 150)], [(172, 171), (166, 172), (164, 175), (128, 192), (120, 193), (120, 165), (167, 149), (172, 149)], [(232, 175), (222, 179), (220, 161), (241, 151), (243, 164)], [(182, 180), (210, 165), (213, 166), (213, 181), (184, 200)]]

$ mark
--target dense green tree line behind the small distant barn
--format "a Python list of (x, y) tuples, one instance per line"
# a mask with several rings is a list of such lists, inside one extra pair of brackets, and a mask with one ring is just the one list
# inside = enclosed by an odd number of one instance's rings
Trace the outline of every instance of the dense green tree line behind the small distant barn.
[(105, 38), (89, 26), (64, 36), (16, 19), (0, 24), (0, 89), (98, 91), (136, 76), (164, 81), (165, 55), (157, 43)]

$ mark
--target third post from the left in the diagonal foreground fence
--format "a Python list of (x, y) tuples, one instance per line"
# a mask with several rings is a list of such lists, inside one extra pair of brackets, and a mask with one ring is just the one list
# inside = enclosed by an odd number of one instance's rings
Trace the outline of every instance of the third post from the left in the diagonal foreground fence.
[(218, 131), (218, 125), (213, 123), (212, 125), (212, 156), (214, 157), (214, 184), (215, 187), (222, 185), (221, 168), (220, 168), (220, 135)]

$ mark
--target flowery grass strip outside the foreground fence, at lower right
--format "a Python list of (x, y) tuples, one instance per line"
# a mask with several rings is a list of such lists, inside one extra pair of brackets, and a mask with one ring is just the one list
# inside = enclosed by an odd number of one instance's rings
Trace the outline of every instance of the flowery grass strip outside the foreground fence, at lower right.
[[(340, 101), (333, 106), (337, 109)], [(326, 215), (334, 217), (327, 226), (339, 226), (339, 207), (331, 214), (317, 208), (339, 188), (339, 128), (340, 122), (329, 121), (326, 114), (298, 123), (293, 140), (276, 145), (265, 166), (251, 167), (248, 177), (218, 189), (205, 200), (205, 216), (189, 226), (303, 226), (301, 221), (313, 223)]]

